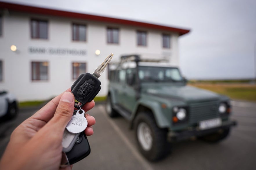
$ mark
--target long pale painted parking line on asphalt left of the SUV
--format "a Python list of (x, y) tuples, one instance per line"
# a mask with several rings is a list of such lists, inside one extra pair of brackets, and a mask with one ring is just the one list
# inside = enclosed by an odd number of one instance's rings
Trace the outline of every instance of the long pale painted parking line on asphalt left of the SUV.
[(133, 147), (133, 145), (130, 143), (128, 138), (122, 133), (121, 129), (115, 124), (115, 122), (111, 119), (109, 119), (108, 115), (106, 114), (106, 111), (102, 105), (99, 106), (99, 109), (101, 110), (103, 115), (106, 117), (106, 120), (110, 123), (110, 125), (114, 128), (114, 130), (117, 132), (117, 134), (121, 137), (121, 139), (126, 143), (128, 148), (132, 151), (134, 156), (141, 162), (141, 164), (145, 167), (146, 170), (153, 170), (153, 168), (150, 166), (150, 164), (139, 154), (137, 149)]

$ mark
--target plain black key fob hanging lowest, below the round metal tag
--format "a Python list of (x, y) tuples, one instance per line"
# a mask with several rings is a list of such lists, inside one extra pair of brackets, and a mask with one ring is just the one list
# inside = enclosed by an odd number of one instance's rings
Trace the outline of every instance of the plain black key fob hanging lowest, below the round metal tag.
[(90, 145), (88, 139), (83, 132), (78, 136), (75, 145), (69, 152), (63, 152), (61, 167), (66, 167), (67, 165), (72, 165), (79, 160), (82, 160), (90, 154)]

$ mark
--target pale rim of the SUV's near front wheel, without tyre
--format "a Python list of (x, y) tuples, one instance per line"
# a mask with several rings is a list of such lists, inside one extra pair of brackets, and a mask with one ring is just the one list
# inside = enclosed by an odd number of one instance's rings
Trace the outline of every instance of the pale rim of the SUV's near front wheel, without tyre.
[(149, 126), (145, 122), (138, 125), (137, 136), (139, 143), (145, 151), (149, 151), (152, 147), (153, 138)]

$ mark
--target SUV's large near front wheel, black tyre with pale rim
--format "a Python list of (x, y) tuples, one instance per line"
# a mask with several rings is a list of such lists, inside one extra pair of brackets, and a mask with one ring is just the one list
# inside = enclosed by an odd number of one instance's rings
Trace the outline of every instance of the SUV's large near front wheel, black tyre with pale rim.
[(164, 158), (170, 151), (167, 130), (157, 127), (151, 112), (141, 112), (135, 118), (135, 134), (139, 150), (150, 161)]

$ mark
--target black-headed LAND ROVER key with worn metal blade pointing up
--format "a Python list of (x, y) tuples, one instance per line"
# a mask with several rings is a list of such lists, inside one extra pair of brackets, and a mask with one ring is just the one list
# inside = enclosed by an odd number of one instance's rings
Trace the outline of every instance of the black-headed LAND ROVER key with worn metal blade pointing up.
[[(85, 73), (79, 75), (77, 80), (71, 86), (71, 92), (74, 94), (75, 99), (81, 103), (83, 107), (86, 103), (92, 101), (99, 93), (101, 82), (98, 80), (99, 76), (106, 69), (106, 66), (111, 61), (113, 54), (111, 53), (105, 61), (98, 66), (94, 73)], [(79, 109), (79, 106), (75, 105)]]

